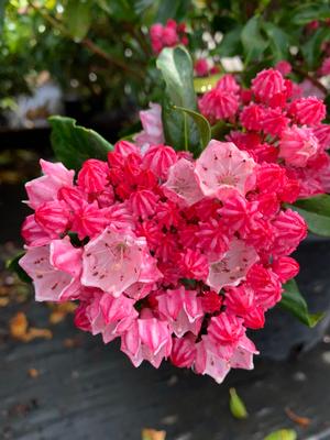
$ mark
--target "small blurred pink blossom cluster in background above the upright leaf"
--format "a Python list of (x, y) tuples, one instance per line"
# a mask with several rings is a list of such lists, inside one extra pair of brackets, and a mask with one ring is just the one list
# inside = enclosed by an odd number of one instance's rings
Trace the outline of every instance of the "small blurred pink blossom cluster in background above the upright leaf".
[(155, 23), (150, 29), (152, 48), (158, 54), (164, 47), (174, 47), (178, 44), (188, 44), (186, 24), (167, 20), (166, 24)]

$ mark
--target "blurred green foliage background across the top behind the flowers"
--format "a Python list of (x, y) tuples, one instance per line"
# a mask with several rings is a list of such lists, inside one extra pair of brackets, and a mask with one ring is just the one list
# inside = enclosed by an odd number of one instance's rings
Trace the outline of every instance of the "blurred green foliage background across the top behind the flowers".
[[(139, 108), (161, 99), (148, 34), (169, 19), (186, 24), (197, 76), (235, 72), (249, 81), (288, 61), (293, 79), (327, 95), (329, 0), (292, 0), (289, 8), (284, 0), (1, 0), (2, 117), (11, 110), (13, 127), (56, 112), (116, 130), (131, 123)], [(197, 79), (197, 90), (210, 81)]]

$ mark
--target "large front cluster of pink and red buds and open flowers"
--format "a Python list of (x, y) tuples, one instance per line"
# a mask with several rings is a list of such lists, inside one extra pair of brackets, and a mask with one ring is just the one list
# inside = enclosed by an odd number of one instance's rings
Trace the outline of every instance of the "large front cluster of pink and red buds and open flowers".
[[(306, 117), (297, 103), (292, 112)], [(121, 141), (76, 178), (41, 161), (44, 175), (26, 184), (34, 213), (20, 260), (36, 300), (78, 301), (76, 326), (105, 343), (120, 338), (135, 366), (168, 359), (218, 383), (252, 369), (246, 329), (280, 300), (306, 237), (299, 215), (282, 208), (296, 182), (260, 157), (215, 140), (197, 160)]]

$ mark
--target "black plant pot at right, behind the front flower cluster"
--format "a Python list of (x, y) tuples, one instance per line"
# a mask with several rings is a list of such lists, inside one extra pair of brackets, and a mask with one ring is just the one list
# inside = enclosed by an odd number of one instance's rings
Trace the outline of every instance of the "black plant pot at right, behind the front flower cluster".
[(330, 324), (330, 240), (308, 237), (294, 256), (301, 267), (297, 280), (308, 308), (311, 312), (323, 311), (324, 318), (310, 329), (279, 307), (270, 310), (264, 329), (250, 337), (262, 356), (276, 361), (310, 350)]

